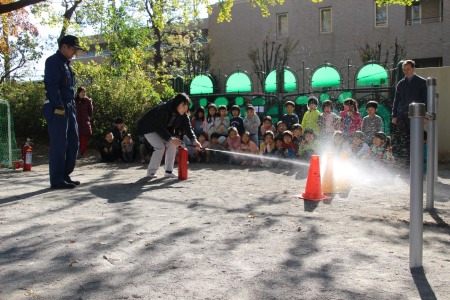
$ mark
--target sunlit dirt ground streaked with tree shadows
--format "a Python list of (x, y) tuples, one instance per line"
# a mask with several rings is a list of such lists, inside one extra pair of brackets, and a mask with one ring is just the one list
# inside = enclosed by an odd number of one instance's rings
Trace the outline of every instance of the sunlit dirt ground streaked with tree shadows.
[(448, 165), (411, 270), (405, 174), (349, 168), (348, 194), (311, 203), (294, 197), (307, 164), (148, 181), (91, 156), (79, 187), (51, 190), (34, 163), (0, 173), (0, 299), (450, 299)]

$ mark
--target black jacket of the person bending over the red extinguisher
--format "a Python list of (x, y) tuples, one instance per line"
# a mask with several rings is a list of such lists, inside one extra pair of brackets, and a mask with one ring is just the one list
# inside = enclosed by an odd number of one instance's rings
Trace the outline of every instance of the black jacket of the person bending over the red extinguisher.
[(180, 116), (174, 108), (173, 99), (148, 110), (138, 121), (140, 134), (156, 132), (162, 139), (170, 141), (175, 132), (186, 134), (195, 141), (194, 131), (188, 115)]

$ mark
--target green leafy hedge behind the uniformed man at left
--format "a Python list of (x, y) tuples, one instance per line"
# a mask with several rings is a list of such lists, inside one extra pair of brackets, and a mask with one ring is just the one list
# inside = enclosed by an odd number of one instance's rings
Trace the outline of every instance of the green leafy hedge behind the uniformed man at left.
[[(73, 68), (77, 74), (76, 88), (84, 86), (88, 97), (93, 100), (91, 146), (95, 146), (104, 132), (113, 127), (117, 117), (125, 120), (129, 132), (137, 140), (139, 117), (155, 104), (174, 95), (163, 77), (152, 79), (138, 68), (120, 75), (107, 65), (95, 63), (74, 64)], [(12, 107), (16, 136), (46, 140), (47, 125), (41, 116), (46, 98), (43, 82), (11, 82), (1, 87), (1, 98)]]

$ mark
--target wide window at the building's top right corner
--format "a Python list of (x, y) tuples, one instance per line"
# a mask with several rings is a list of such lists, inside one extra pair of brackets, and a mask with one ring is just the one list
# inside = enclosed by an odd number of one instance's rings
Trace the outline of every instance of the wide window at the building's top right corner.
[(442, 22), (443, 0), (414, 2), (406, 7), (406, 25)]

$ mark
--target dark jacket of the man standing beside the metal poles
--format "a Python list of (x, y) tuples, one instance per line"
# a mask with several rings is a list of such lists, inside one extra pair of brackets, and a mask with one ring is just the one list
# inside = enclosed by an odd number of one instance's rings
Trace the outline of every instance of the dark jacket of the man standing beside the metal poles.
[(406, 77), (400, 80), (395, 90), (394, 107), (392, 117), (408, 115), (411, 103), (424, 103), (427, 105), (427, 81), (425, 78), (414, 76), (409, 81)]

